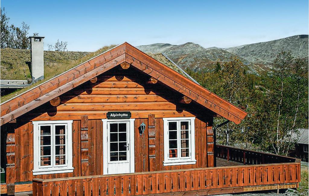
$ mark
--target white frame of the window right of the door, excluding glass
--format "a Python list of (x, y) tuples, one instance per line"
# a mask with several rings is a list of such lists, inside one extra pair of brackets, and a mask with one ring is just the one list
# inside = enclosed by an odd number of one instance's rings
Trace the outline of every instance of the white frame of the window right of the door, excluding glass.
[[(189, 157), (181, 157), (181, 121), (189, 122)], [(169, 157), (169, 122), (177, 122), (177, 157)], [(195, 164), (195, 117), (163, 118), (164, 161), (163, 166)]]

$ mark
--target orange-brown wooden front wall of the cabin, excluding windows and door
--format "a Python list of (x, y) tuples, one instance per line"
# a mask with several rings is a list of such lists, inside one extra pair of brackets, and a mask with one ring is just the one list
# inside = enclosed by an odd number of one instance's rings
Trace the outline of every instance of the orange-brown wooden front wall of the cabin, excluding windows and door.
[[(116, 74), (115, 74), (116, 73)], [(135, 172), (212, 167), (214, 165), (213, 112), (191, 102), (181, 104), (182, 95), (163, 84), (149, 84), (149, 76), (133, 68), (117, 67), (60, 96), (57, 107), (49, 103), (19, 117), (15, 131), (7, 135), (7, 149), (15, 145), (15, 156), (7, 152), (7, 182), (27, 182), (32, 178), (64, 178), (103, 174), (103, 123), (108, 111), (130, 111), (135, 118)], [(148, 133), (149, 115), (155, 126)], [(195, 165), (163, 166), (163, 117), (192, 117), (195, 120)], [(33, 125), (35, 120), (73, 120), (73, 173), (32, 175)], [(140, 136), (139, 125), (146, 130)], [(154, 136), (151, 135), (154, 133)], [(149, 137), (150, 136), (150, 137)], [(15, 138), (15, 141), (12, 138)], [(11, 138), (11, 139), (10, 139)], [(14, 143), (14, 144), (13, 144)], [(149, 146), (152, 146), (150, 150)], [(151, 160), (151, 161), (149, 161)], [(151, 162), (151, 163), (150, 163)], [(9, 168), (9, 170), (8, 170)], [(14, 172), (15, 169), (15, 172)], [(15, 179), (13, 180), (13, 173)]]

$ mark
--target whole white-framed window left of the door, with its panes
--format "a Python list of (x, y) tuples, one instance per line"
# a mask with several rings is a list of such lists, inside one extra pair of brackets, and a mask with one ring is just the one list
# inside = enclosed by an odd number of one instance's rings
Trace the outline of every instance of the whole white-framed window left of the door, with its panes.
[(33, 121), (33, 175), (73, 172), (73, 120)]

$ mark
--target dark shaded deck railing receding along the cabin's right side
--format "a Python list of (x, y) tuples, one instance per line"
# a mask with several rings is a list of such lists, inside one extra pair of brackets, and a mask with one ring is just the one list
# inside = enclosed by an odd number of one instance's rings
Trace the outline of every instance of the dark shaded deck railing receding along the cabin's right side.
[(216, 145), (216, 157), (241, 163), (243, 165), (271, 164), (271, 163), (300, 163), (300, 159), (285, 157), (270, 153), (261, 153), (252, 150), (233, 148), (229, 146)]

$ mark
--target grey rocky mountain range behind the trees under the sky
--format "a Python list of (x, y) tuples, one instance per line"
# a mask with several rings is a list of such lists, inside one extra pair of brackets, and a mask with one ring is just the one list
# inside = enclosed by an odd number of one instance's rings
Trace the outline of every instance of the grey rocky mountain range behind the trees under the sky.
[(194, 71), (212, 70), (217, 62), (224, 63), (231, 56), (236, 56), (248, 67), (249, 72), (258, 74), (272, 68), (272, 62), (281, 49), (292, 51), (294, 58), (304, 59), (308, 63), (308, 35), (230, 48), (204, 48), (192, 42), (181, 45), (155, 43), (138, 48), (146, 53), (164, 53), (180, 67), (189, 67)]

